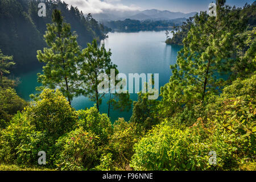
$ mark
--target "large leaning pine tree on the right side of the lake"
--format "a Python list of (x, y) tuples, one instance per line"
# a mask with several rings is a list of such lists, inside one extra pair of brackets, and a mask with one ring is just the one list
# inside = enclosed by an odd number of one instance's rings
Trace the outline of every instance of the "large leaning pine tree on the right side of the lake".
[[(217, 1), (217, 17), (206, 12), (197, 14), (184, 48), (172, 65), (170, 82), (161, 89), (162, 106), (171, 114), (184, 105), (204, 103), (207, 96), (217, 94), (224, 80), (221, 73), (229, 73), (236, 57), (236, 38), (245, 29), (239, 9)], [(168, 108), (168, 109), (167, 109)]]

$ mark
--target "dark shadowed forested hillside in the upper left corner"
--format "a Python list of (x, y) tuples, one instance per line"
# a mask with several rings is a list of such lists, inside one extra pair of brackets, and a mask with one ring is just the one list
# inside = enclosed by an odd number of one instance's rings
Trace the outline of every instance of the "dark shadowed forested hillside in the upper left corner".
[[(46, 4), (46, 17), (38, 16), (38, 4)], [(105, 38), (108, 28), (99, 24), (92, 15), (84, 14), (60, 0), (1, 0), (0, 1), (0, 49), (6, 55), (13, 55), (15, 67), (33, 69), (41, 66), (36, 60), (36, 51), (46, 46), (43, 35), (46, 23), (51, 23), (53, 9), (61, 10), (64, 20), (71, 24), (72, 31), (78, 35), (77, 41), (81, 47), (93, 39), (98, 41)], [(12, 69), (13, 69), (12, 68)]]

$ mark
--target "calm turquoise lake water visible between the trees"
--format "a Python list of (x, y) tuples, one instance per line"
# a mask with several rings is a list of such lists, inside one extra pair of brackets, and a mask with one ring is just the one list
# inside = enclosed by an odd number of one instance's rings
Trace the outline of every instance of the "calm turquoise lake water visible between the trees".
[[(110, 32), (109, 38), (102, 41), (106, 49), (111, 49), (112, 61), (118, 65), (120, 73), (159, 73), (159, 88), (169, 81), (171, 76), (170, 65), (176, 63), (177, 52), (181, 46), (169, 46), (164, 43), (166, 36), (164, 31), (144, 31), (144, 32)], [(35, 93), (35, 87), (39, 86), (36, 73), (42, 72), (42, 69), (26, 72), (17, 75), (20, 78), (20, 84), (16, 88), (20, 97), (30, 100), (29, 95)], [(134, 101), (137, 100), (137, 94), (130, 96)], [(105, 96), (100, 106), (101, 113), (108, 113), (106, 102), (109, 98)], [(76, 110), (92, 107), (94, 103), (88, 98), (80, 96), (74, 98), (72, 106)], [(131, 110), (129, 112), (110, 111), (112, 121), (123, 117), (129, 121)]]

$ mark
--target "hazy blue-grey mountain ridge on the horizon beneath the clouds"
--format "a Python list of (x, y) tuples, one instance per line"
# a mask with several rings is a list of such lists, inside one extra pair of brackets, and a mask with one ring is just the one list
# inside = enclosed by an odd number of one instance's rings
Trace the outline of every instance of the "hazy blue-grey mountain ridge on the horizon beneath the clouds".
[(125, 19), (135, 19), (135, 20), (170, 20), (177, 18), (189, 18), (195, 15), (196, 12), (192, 13), (180, 13), (171, 11), (161, 11), (161, 10), (144, 10), (144, 11), (113, 11), (104, 12), (100, 14), (94, 14), (93, 18), (99, 21), (106, 20), (125, 20)]

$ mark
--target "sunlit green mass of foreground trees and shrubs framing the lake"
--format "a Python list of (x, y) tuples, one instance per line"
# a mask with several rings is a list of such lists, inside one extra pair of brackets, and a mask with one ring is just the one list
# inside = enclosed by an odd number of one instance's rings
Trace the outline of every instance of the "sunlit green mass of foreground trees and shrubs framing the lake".
[[(112, 53), (97, 40), (81, 49), (72, 24), (53, 10), (47, 47), (37, 51), (44, 67), (34, 101), (16, 95), (15, 80), (7, 78), (15, 61), (0, 52), (0, 169), (256, 170), (255, 3), (216, 5), (216, 17), (193, 17), (161, 99), (138, 93), (130, 121), (113, 124), (100, 113), (104, 94), (97, 87), (100, 73), (118, 72)], [(73, 109), (79, 95), (95, 106)], [(131, 105), (128, 93), (108, 103), (119, 110)], [(46, 152), (44, 165), (39, 151)]]

